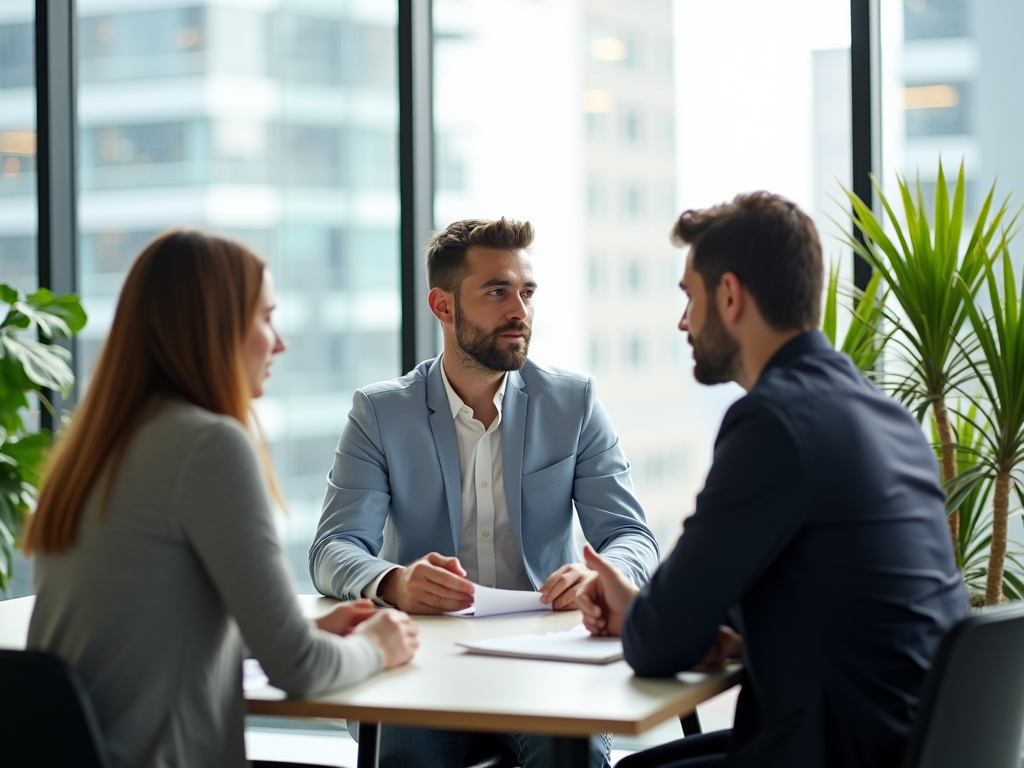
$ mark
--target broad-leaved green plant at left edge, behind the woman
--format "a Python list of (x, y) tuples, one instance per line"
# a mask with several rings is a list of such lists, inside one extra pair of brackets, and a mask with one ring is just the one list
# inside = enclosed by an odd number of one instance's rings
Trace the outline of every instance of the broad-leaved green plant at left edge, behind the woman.
[(7, 306), (0, 323), (0, 591), (6, 591), (14, 548), (35, 506), (51, 441), (49, 432), (32, 431), (26, 424), (30, 396), (53, 413), (41, 390), (71, 391), (71, 353), (46, 342), (71, 338), (87, 318), (77, 296), (58, 296), (45, 288), (24, 296), (0, 283), (0, 304)]

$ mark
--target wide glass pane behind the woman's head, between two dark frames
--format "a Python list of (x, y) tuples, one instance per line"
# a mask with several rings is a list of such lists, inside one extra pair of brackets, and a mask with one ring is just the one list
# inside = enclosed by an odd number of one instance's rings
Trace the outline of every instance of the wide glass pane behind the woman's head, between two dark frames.
[(79, 0), (86, 380), (125, 270), (171, 226), (269, 259), (289, 351), (257, 408), (306, 553), (352, 390), (399, 368), (396, 6)]

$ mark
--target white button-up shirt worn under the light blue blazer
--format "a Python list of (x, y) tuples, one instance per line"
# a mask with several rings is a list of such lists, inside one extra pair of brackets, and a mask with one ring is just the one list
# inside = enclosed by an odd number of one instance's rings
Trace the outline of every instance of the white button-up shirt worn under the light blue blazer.
[[(463, 402), (449, 383), (441, 359), (441, 379), (447, 393), (462, 470), (462, 536), (459, 562), (474, 584), (499, 589), (532, 591), (522, 555), (512, 536), (505, 475), (502, 468), (502, 401), (508, 374), (495, 392), (498, 416), (489, 427), (473, 418), (473, 410)], [(389, 568), (362, 589), (362, 596), (382, 602), (377, 595)]]

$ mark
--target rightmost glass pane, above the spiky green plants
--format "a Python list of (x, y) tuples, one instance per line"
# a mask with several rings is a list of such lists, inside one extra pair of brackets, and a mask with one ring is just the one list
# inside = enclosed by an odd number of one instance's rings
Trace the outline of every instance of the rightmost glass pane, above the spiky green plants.
[[(1024, 188), (1024, 6), (1011, 0), (893, 0), (883, 4), (883, 177), (920, 176), (934, 201), (939, 160), (955, 177), (963, 161), (967, 215), (992, 183), (1001, 201)], [(1019, 203), (1018, 203), (1019, 204)]]

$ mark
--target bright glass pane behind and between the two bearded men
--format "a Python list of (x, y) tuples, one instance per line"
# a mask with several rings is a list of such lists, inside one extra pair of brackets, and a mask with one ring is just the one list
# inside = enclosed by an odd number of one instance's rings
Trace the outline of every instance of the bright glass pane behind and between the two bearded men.
[(849, 3), (435, 0), (434, 25), (436, 224), (535, 223), (530, 354), (595, 377), (668, 551), (740, 394), (693, 381), (669, 231), (767, 188), (850, 271)]

